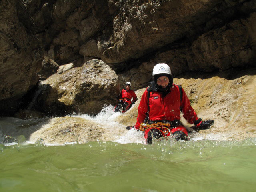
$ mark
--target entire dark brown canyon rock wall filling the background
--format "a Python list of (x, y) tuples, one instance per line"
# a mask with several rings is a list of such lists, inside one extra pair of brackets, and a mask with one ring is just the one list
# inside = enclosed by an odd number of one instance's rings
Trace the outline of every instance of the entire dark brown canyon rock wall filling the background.
[(2, 114), (30, 103), (44, 56), (102, 60), (134, 90), (159, 62), (174, 75), (255, 66), (255, 0), (2, 0), (0, 10)]

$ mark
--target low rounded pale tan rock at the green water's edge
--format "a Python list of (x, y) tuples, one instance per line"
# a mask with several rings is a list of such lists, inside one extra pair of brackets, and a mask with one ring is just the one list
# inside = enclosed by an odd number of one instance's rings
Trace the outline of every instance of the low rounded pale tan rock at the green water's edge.
[(110, 129), (103, 124), (80, 117), (53, 118), (30, 136), (31, 142), (43, 139), (46, 144), (87, 143), (90, 141), (113, 141), (122, 135), (123, 126)]

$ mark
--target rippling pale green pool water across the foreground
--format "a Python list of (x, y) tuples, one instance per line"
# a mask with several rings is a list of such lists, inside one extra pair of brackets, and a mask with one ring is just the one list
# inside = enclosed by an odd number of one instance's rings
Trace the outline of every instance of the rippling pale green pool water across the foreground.
[(254, 192), (256, 139), (0, 145), (0, 191)]

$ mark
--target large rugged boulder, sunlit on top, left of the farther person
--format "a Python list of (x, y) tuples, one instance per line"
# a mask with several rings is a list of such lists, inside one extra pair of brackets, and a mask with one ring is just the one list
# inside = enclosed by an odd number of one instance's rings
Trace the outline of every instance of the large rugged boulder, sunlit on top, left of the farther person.
[(48, 114), (97, 114), (104, 104), (115, 104), (119, 94), (118, 77), (101, 60), (54, 74), (41, 82), (34, 108)]

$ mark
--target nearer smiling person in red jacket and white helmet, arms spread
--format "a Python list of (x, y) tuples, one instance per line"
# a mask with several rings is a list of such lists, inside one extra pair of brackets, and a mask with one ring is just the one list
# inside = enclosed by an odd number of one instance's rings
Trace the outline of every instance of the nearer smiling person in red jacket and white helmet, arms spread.
[[(171, 70), (167, 64), (160, 63), (154, 66), (153, 78), (152, 86), (142, 95), (137, 122), (133, 126), (139, 129), (141, 123), (147, 124), (148, 127), (143, 131), (148, 144), (152, 143), (152, 136), (159, 139), (171, 134), (176, 140), (188, 140), (188, 130), (180, 122), (180, 111), (198, 130), (210, 128), (214, 120), (202, 121), (197, 117), (182, 87), (173, 84)], [(130, 128), (132, 127), (127, 127)]]

